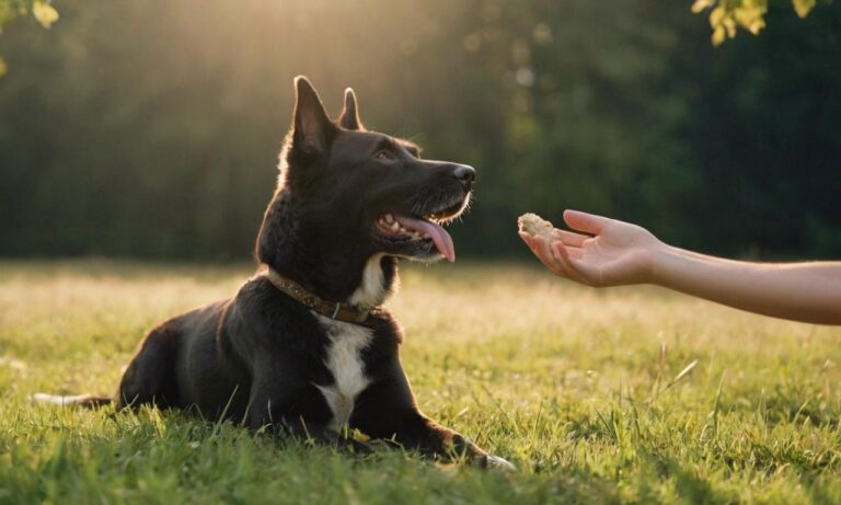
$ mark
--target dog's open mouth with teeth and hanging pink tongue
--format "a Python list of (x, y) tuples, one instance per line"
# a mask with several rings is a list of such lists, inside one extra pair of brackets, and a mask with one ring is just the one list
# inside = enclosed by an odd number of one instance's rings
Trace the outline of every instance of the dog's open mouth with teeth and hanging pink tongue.
[(377, 218), (377, 229), (385, 240), (394, 245), (403, 245), (414, 250), (431, 250), (431, 246), (435, 246), (448, 262), (452, 263), (456, 261), (456, 246), (442, 225), (447, 225), (458, 217), (461, 210), (461, 205), (459, 205), (457, 208), (448, 208), (424, 216), (385, 213)]

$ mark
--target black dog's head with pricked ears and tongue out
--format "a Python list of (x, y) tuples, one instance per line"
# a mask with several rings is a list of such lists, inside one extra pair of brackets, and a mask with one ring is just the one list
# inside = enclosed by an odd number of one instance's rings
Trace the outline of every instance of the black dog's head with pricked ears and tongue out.
[(334, 122), (306, 78), (295, 85), (292, 126), (257, 239), (258, 261), (281, 267), (286, 256), (307, 254), (313, 262), (329, 255), (365, 264), (378, 253), (453, 261), (442, 225), (468, 206), (475, 171), (420, 159), (414, 144), (365, 129), (350, 89)]

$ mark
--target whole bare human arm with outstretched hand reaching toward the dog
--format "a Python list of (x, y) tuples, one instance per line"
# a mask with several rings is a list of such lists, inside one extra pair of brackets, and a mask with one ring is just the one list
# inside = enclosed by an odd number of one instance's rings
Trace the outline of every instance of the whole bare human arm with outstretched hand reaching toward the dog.
[[(636, 225), (567, 210), (577, 230), (520, 233), (553, 273), (594, 287), (655, 284), (775, 318), (841, 324), (841, 262), (753, 263), (681, 250)], [(584, 233), (579, 233), (584, 232)]]

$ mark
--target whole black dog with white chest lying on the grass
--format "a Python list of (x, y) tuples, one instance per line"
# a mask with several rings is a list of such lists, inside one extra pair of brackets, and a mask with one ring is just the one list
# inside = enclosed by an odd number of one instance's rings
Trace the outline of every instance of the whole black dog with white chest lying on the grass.
[(123, 376), (117, 408), (195, 408), (323, 440), (349, 426), (510, 468), (420, 413), (400, 363), (401, 329), (380, 307), (398, 259), (453, 261), (440, 223), (468, 205), (475, 171), (422, 160), (411, 142), (367, 131), (350, 89), (334, 123), (310, 82), (295, 83), (280, 177), (256, 242), (261, 269), (234, 298), (152, 330)]

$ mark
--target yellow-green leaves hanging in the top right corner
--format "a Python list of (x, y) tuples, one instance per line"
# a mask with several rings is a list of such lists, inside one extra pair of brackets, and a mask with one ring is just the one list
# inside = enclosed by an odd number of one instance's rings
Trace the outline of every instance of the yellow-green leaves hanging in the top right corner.
[[(831, 2), (832, 0), (827, 0)], [(738, 26), (753, 35), (765, 27), (765, 13), (769, 0), (695, 0), (692, 12), (698, 14), (710, 11), (710, 26), (713, 28), (712, 41), (719, 46), (726, 38), (736, 36)], [(799, 18), (806, 18), (815, 8), (817, 0), (792, 0), (794, 11)]]

